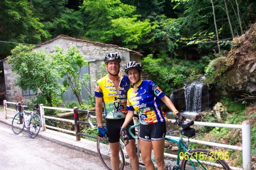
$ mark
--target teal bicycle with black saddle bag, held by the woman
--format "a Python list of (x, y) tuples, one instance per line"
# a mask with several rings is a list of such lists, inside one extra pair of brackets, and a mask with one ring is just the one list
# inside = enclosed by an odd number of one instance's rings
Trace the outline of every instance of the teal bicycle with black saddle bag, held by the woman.
[[(172, 120), (168, 120), (173, 122)], [(179, 149), (177, 152), (177, 161), (176, 165), (172, 165), (170, 163), (165, 164), (165, 169), (168, 170), (185, 170), (185, 169), (230, 169), (229, 165), (226, 164), (224, 155), (217, 156), (217, 152), (205, 150), (205, 149), (194, 149), (189, 150), (189, 148), (185, 145), (183, 142), (183, 135), (187, 137), (192, 137), (195, 135), (195, 129), (190, 128), (190, 126), (193, 125), (193, 121), (175, 121), (175, 124), (179, 125), (181, 127), (180, 130), (180, 139), (172, 139), (172, 138), (165, 138), (167, 141), (177, 143), (179, 145)], [(129, 129), (129, 132), (131, 133), (131, 129), (139, 126), (140, 124), (131, 126)], [(132, 133), (131, 135), (138, 139), (138, 137), (135, 137)], [(182, 151), (181, 151), (182, 150)], [(183, 153), (183, 154), (181, 154)], [(154, 158), (152, 158), (152, 161), (154, 162)], [(180, 163), (181, 161), (181, 163)], [(214, 168), (213, 168), (214, 167)], [(143, 163), (140, 163), (140, 168), (146, 169)], [(155, 167), (157, 169), (157, 167)]]

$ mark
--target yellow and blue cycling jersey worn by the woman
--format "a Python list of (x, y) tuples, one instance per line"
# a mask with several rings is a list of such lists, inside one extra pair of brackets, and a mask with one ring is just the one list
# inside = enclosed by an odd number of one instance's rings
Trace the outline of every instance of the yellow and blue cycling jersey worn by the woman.
[(127, 110), (137, 111), (141, 124), (154, 124), (156, 122), (166, 122), (166, 114), (160, 107), (160, 99), (164, 93), (151, 80), (139, 80), (138, 90), (130, 88), (128, 91)]

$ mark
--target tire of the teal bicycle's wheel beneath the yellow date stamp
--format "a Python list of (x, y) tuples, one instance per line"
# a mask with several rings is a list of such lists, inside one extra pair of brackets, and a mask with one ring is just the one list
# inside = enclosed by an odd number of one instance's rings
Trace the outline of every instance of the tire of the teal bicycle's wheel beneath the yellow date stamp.
[[(200, 160), (200, 162), (210, 162), (218, 165), (218, 167), (213, 167), (212, 165), (201, 165), (198, 162), (193, 162), (193, 165), (195, 165), (196, 169), (230, 169), (229, 165), (226, 164), (225, 160), (221, 159), (220, 156), (215, 155), (215, 153), (219, 152), (213, 152), (204, 149), (195, 149), (189, 151), (189, 153), (190, 155), (187, 158), (184, 157), (184, 159), (181, 161), (181, 170), (191, 169), (190, 167), (192, 167), (192, 164), (189, 159), (197, 159)], [(192, 156), (193, 158), (191, 158)]]

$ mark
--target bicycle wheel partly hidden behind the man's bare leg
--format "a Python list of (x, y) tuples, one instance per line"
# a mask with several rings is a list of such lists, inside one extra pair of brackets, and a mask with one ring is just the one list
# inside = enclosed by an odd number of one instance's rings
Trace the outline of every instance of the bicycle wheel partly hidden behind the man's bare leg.
[[(106, 167), (106, 169), (112, 170), (112, 165), (110, 162), (110, 148), (108, 140), (102, 141), (100, 138), (97, 138), (97, 152), (98, 157), (100, 158), (102, 164)], [(119, 170), (125, 168), (125, 156), (123, 154), (123, 150), (120, 147), (119, 152)]]

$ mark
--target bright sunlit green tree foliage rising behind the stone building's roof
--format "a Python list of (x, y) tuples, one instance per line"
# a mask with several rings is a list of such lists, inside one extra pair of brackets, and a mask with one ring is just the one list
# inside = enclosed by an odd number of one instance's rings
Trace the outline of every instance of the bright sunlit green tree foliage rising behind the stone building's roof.
[(141, 43), (141, 37), (151, 29), (147, 20), (137, 20), (134, 6), (125, 5), (119, 0), (84, 1), (81, 10), (85, 16), (85, 36), (92, 41), (136, 48), (136, 44)]

